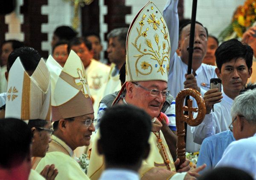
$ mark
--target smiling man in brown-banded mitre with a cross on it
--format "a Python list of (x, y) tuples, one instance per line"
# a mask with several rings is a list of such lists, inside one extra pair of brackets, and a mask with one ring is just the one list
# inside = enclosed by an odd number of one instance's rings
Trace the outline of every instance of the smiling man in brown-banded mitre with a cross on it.
[[(84, 66), (71, 51), (64, 67), (50, 56), (47, 67), (51, 73), (52, 122), (54, 133), (46, 156), (33, 165), (40, 172), (46, 164), (55, 164), (56, 180), (88, 179), (74, 160), (74, 150), (90, 144), (93, 125), (93, 105), (84, 77)], [(79, 77), (79, 78), (78, 78)]]

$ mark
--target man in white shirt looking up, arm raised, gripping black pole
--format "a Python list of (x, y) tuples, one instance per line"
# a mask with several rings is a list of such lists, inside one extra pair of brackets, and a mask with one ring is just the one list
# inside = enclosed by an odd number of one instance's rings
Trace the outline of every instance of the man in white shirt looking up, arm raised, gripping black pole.
[[(207, 51), (208, 32), (201, 23), (196, 22), (192, 73), (186, 75), (189, 59), (187, 48), (189, 46), (190, 22), (185, 23), (178, 30), (177, 3), (178, 0), (169, 0), (163, 10), (172, 47), (169, 62), (168, 90), (170, 90), (172, 96), (176, 97), (184, 88), (193, 88), (204, 96), (204, 93), (209, 90), (210, 79), (217, 78), (214, 66), (202, 64)], [(180, 51), (180, 56), (175, 52), (177, 48)], [(195, 100), (193, 100), (193, 106), (197, 107)], [(199, 151), (200, 146), (193, 142), (189, 126), (186, 131), (186, 151)]]

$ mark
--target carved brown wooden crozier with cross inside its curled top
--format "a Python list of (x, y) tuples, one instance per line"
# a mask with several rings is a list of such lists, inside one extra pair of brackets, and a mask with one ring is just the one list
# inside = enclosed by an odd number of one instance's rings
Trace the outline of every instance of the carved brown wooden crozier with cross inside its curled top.
[[(198, 107), (192, 107), (192, 100), (188, 100), (188, 106), (184, 106), (184, 99), (186, 96), (192, 96), (195, 98)], [(183, 111), (188, 111), (188, 115), (184, 115)], [(193, 119), (192, 112), (197, 112), (198, 116), (196, 119)], [(185, 144), (185, 127), (184, 122), (190, 126), (197, 126), (203, 120), (206, 113), (206, 108), (204, 104), (204, 99), (201, 94), (192, 88), (181, 90), (176, 97), (176, 127), (177, 127), (177, 157), (180, 159), (180, 164), (184, 163), (186, 160), (186, 144)]]

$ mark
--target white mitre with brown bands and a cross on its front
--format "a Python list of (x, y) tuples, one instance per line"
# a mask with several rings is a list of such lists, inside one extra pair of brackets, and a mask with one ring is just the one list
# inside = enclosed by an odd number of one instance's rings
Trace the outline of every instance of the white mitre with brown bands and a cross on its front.
[(49, 56), (47, 67), (51, 74), (52, 121), (93, 113), (84, 65), (79, 56), (71, 50), (63, 69)]

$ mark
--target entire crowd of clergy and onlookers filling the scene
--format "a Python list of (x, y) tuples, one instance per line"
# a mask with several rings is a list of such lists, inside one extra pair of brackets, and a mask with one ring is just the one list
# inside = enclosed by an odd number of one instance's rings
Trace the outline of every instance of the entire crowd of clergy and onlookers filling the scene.
[[(256, 180), (256, 27), (220, 44), (196, 21), (187, 74), (191, 21), (179, 24), (177, 3), (162, 15), (148, 2), (129, 29), (111, 30), (111, 64), (99, 35), (79, 37), (69, 26), (55, 29), (46, 61), (4, 41), (0, 179)], [(200, 125), (184, 129), (186, 151), (199, 151), (196, 166), (177, 158), (175, 98), (186, 88), (206, 109)]]

